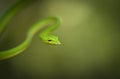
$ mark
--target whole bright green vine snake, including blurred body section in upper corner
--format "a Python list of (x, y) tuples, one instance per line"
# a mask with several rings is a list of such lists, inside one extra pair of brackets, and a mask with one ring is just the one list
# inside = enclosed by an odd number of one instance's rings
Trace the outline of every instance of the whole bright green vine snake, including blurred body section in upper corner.
[[(26, 5), (28, 5), (32, 0), (21, 0), (20, 2), (16, 3), (12, 7), (10, 7), (2, 16), (0, 19), (0, 33), (3, 32), (3, 30), (8, 25), (9, 21), (17, 14), (19, 11), (21, 11)], [(45, 43), (51, 44), (51, 45), (57, 45), (60, 44), (60, 41), (57, 36), (51, 35), (51, 32), (53, 32), (59, 25), (61, 21), (57, 17), (48, 17), (44, 18), (35, 24), (32, 25), (32, 27), (28, 30), (25, 40), (18, 46), (11, 48), (9, 50), (1, 51), (0, 52), (0, 60), (7, 59), (14, 57), (18, 55), (19, 53), (23, 52), (31, 43), (34, 35), (40, 31), (43, 27), (47, 27), (45, 30), (43, 30), (39, 37), (41, 40)]]

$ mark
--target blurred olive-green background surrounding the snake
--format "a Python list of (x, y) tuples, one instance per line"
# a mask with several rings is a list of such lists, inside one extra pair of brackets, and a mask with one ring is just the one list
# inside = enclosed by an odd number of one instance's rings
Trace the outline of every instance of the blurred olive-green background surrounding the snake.
[[(19, 0), (0, 0), (0, 16)], [(20, 55), (0, 61), (0, 79), (120, 79), (119, 0), (34, 0), (8, 25), (0, 49), (20, 44), (40, 18), (59, 16), (61, 45), (37, 35)]]

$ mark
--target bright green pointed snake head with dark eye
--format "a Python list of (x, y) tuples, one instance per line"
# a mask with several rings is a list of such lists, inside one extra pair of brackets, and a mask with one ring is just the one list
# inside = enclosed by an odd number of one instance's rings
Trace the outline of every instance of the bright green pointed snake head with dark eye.
[(51, 44), (51, 45), (60, 44), (58, 37), (54, 35), (41, 36), (40, 38), (44, 43), (47, 43), (47, 44)]

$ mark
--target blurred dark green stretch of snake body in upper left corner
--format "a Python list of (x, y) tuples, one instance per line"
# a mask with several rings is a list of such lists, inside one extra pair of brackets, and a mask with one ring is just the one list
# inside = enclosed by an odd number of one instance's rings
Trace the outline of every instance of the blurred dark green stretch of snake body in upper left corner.
[(0, 17), (0, 34), (4, 31), (10, 20), (31, 2), (32, 0), (20, 0), (4, 12), (3, 16)]

